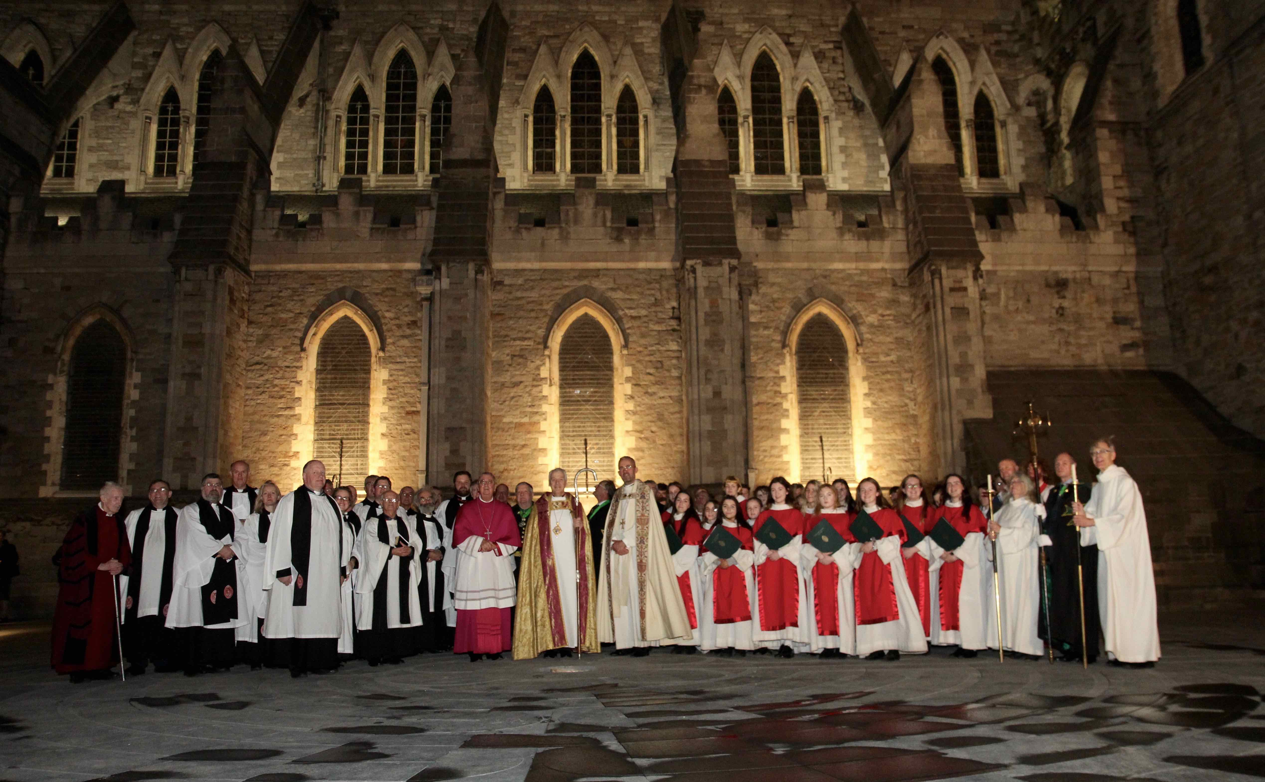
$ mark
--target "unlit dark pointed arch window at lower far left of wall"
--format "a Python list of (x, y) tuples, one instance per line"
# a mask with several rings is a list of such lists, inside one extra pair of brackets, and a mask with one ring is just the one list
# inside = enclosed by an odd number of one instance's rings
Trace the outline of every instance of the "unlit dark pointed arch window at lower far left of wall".
[(126, 366), (126, 342), (105, 318), (75, 340), (66, 375), (62, 489), (91, 490), (119, 480)]

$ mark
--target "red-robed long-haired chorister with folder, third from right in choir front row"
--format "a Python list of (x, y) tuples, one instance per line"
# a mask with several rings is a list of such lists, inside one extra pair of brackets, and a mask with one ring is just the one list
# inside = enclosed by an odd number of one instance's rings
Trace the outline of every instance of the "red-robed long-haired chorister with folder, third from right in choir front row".
[[(858, 517), (864, 510), (882, 531), (877, 541), (858, 541), (849, 528), (849, 555), (855, 568), (856, 654), (868, 659), (899, 659), (901, 652), (927, 651), (918, 605), (904, 577), (901, 546), (904, 524), (873, 478), (856, 484)], [(855, 519), (854, 519), (855, 522)]]

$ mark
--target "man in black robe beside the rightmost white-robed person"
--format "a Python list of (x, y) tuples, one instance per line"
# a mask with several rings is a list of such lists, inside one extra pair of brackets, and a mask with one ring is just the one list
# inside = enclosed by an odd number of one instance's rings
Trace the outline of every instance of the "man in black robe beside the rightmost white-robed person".
[[(1080, 534), (1071, 523), (1074, 493), (1071, 470), (1075, 461), (1070, 454), (1059, 454), (1054, 460), (1054, 472), (1059, 484), (1050, 488), (1045, 500), (1045, 520), (1042, 532), (1050, 536), (1052, 544), (1046, 548), (1046, 563), (1050, 574), (1050, 634), (1055, 651), (1063, 653), (1065, 662), (1079, 662), (1088, 653), (1088, 661), (1098, 657), (1098, 546), (1080, 546)], [(1075, 499), (1089, 502), (1090, 485), (1077, 485)], [(1077, 550), (1080, 550), (1082, 577), (1085, 585), (1085, 643), (1080, 643), (1080, 587), (1077, 582)], [(1037, 624), (1037, 634), (1045, 638), (1045, 623)]]

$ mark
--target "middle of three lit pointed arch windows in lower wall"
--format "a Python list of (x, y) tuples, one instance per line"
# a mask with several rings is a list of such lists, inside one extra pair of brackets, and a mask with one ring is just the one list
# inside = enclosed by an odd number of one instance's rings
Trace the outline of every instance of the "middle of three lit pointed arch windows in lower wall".
[(589, 313), (577, 317), (558, 345), (558, 464), (568, 475), (587, 466), (615, 467), (615, 349)]

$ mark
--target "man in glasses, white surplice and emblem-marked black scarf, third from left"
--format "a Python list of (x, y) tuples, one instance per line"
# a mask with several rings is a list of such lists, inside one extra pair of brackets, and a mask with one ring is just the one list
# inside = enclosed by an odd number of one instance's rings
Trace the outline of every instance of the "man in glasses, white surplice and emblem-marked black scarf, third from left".
[(245, 562), (233, 548), (237, 519), (221, 504), (224, 483), (216, 472), (202, 476), (202, 496), (180, 510), (176, 563), (172, 568), (167, 627), (180, 629), (185, 644), (185, 676), (228, 670), (237, 661), (235, 630), (245, 623), (240, 603)]

